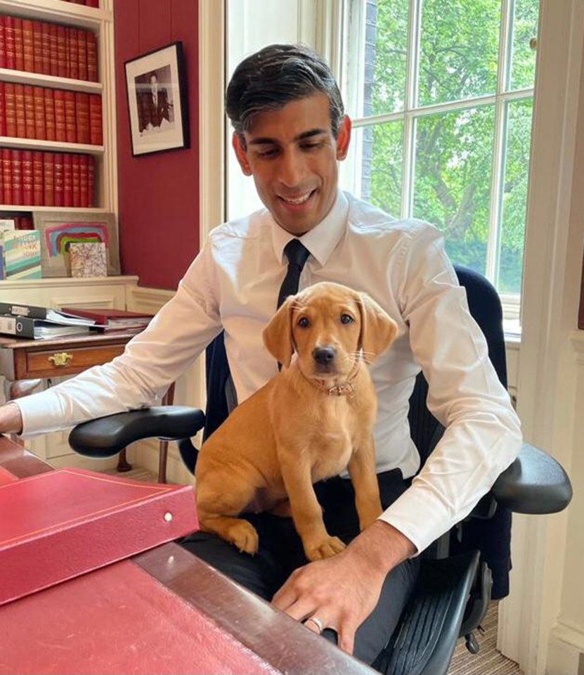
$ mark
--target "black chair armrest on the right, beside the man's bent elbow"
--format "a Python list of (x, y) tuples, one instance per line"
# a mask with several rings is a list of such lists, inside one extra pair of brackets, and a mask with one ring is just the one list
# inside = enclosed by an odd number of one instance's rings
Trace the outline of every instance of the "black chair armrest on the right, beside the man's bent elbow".
[(529, 443), (493, 485), (495, 500), (515, 513), (557, 513), (572, 499), (570, 479), (552, 456)]

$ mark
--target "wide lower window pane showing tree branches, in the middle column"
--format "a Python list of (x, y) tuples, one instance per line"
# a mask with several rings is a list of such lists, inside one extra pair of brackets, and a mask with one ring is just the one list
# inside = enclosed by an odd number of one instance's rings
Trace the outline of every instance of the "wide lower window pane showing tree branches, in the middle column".
[(485, 274), (495, 108), (420, 117), (414, 215), (441, 229), (453, 262)]

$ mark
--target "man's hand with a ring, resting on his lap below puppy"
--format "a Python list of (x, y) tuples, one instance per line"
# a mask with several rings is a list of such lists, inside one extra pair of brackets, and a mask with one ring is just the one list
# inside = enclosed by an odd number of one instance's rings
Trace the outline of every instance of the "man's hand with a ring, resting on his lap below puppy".
[(406, 536), (376, 520), (341, 553), (292, 572), (272, 601), (299, 621), (316, 617), (306, 627), (320, 633), (320, 622), (334, 629), (339, 647), (352, 654), (356, 630), (375, 609), (385, 577), (414, 553)]

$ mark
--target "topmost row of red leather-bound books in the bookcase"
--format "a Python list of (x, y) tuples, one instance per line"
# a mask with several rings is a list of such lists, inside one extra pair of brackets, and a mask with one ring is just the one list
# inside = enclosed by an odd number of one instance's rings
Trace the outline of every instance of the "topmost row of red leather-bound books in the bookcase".
[(96, 34), (1, 14), (0, 68), (98, 82)]

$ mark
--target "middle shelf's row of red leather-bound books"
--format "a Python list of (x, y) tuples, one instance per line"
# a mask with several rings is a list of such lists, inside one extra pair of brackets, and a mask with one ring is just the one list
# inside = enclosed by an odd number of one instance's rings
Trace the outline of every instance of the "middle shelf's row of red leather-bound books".
[(101, 96), (0, 82), (0, 136), (101, 146)]

